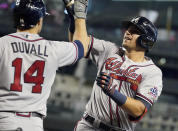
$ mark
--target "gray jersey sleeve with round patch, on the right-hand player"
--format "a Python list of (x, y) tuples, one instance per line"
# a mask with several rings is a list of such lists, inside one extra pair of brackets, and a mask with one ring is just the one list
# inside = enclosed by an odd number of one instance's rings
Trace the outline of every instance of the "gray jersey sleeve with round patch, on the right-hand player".
[(141, 100), (143, 104), (149, 109), (158, 99), (162, 91), (162, 72), (155, 68), (142, 76), (136, 99)]

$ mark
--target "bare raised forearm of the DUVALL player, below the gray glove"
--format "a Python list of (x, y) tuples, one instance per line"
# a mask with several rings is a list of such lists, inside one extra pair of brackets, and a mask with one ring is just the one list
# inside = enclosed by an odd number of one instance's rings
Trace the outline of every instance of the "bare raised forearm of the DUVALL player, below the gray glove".
[(75, 20), (75, 32), (73, 36), (73, 41), (75, 40), (79, 40), (83, 44), (84, 55), (86, 56), (90, 38), (87, 34), (85, 19)]

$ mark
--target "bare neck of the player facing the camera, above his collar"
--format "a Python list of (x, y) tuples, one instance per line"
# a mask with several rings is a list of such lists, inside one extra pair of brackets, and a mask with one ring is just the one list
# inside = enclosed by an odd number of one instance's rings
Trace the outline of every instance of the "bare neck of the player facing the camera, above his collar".
[(145, 59), (145, 52), (127, 52), (126, 56), (134, 62), (144, 62)]

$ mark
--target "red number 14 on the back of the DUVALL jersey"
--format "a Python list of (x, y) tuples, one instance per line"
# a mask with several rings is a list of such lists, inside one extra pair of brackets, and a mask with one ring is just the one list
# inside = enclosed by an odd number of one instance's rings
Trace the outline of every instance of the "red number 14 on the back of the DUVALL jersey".
[[(11, 84), (11, 91), (22, 92), (21, 72), (22, 72), (22, 58), (16, 58), (12, 62), (12, 66), (15, 68), (14, 83)], [(41, 93), (44, 82), (43, 72), (45, 67), (45, 61), (36, 60), (30, 68), (24, 73), (24, 83), (34, 83), (32, 87), (32, 93)], [(33, 74), (36, 72), (36, 75)]]

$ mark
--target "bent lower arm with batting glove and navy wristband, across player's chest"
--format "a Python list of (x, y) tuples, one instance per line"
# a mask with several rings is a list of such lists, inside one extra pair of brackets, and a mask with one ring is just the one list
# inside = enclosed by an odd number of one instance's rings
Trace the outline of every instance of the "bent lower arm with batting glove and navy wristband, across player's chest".
[(117, 85), (112, 86), (113, 79), (105, 72), (100, 72), (96, 78), (97, 85), (102, 88), (104, 93), (117, 103), (124, 111), (133, 117), (141, 116), (145, 111), (145, 105), (136, 99), (130, 98), (115, 89)]

